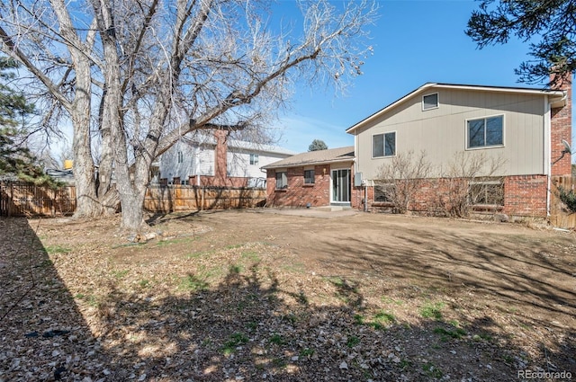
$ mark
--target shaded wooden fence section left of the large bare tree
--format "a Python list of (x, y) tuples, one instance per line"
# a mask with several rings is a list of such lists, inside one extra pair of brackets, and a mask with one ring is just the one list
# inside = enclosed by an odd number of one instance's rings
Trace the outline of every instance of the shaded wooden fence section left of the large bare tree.
[(37, 186), (28, 182), (0, 182), (0, 216), (67, 216), (76, 210), (76, 189)]

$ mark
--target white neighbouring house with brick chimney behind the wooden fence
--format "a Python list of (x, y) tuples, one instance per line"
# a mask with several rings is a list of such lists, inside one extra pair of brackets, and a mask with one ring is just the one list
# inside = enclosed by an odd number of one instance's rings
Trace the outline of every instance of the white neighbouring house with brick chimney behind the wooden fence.
[(214, 136), (184, 137), (170, 147), (158, 158), (152, 182), (264, 187), (266, 173), (260, 168), (294, 154), (281, 147), (232, 139), (218, 130)]

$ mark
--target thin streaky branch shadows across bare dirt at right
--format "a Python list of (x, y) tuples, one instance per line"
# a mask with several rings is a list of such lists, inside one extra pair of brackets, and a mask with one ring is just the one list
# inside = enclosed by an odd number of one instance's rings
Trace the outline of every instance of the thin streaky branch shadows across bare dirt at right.
[[(391, 280), (400, 289), (397, 295), (455, 301), (453, 316), (461, 322), (476, 316), (468, 327), (483, 328), (481, 332), (490, 333), (496, 342), (518, 343), (512, 341), (515, 334), (508, 333), (510, 326), (517, 326), (527, 336), (520, 342), (537, 348), (532, 354), (536, 368), (574, 375), (576, 290), (570, 252), (574, 242), (570, 238), (563, 243), (535, 242), (526, 250), (526, 245), (518, 247), (518, 240), (522, 238), (463, 237), (403, 228), (383, 241), (347, 237), (338, 244), (320, 240), (317, 246), (332, 254), (322, 261), (328, 269), (346, 264), (367, 278)], [(475, 312), (470, 314), (471, 310)], [(509, 325), (496, 327), (492, 315)]]

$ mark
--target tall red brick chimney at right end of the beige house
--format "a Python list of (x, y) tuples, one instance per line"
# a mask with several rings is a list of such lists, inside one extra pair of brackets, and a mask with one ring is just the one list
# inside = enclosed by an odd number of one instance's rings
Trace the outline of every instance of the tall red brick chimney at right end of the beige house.
[(551, 111), (552, 175), (570, 176), (572, 174), (572, 155), (564, 154), (563, 158), (560, 158), (565, 149), (562, 139), (572, 145), (572, 73), (564, 76), (563, 80), (554, 86), (554, 90), (565, 91), (567, 98), (565, 106), (553, 108)]

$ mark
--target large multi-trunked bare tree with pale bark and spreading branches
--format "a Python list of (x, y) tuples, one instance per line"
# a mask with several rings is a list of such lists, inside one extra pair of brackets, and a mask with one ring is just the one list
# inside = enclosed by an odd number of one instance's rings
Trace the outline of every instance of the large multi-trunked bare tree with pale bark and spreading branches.
[(361, 74), (374, 4), (297, 4), (302, 30), (271, 22), (264, 1), (0, 5), (0, 48), (31, 74), (45, 120), (74, 127), (76, 216), (110, 214), (119, 197), (122, 227), (139, 231), (150, 164), (184, 134), (259, 135), (294, 81), (339, 88)]

